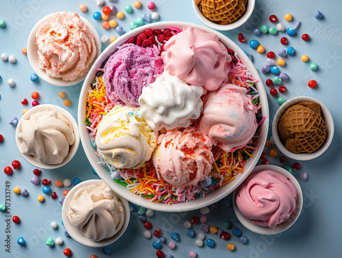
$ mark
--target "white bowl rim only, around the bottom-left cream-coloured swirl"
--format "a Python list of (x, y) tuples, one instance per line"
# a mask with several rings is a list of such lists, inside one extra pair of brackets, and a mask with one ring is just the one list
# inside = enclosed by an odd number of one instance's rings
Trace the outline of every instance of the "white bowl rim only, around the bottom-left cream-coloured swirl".
[(116, 242), (116, 240), (118, 240), (121, 237), (121, 235), (124, 233), (124, 231), (126, 231), (127, 226), (129, 224), (129, 218), (131, 216), (131, 211), (129, 210), (129, 202), (126, 201), (121, 196), (118, 196), (118, 197), (120, 198), (122, 206), (124, 207), (124, 222), (122, 224), (121, 229), (112, 237), (109, 237), (105, 240), (101, 240), (98, 242), (94, 242), (92, 240), (89, 240), (81, 232), (79, 232), (77, 229), (75, 229), (73, 224), (71, 224), (70, 221), (68, 220), (68, 217), (66, 216), (66, 214), (68, 214), (68, 206), (69, 206), (69, 203), (70, 203), (71, 199), (73, 198), (73, 195), (75, 194), (75, 192), (77, 192), (77, 190), (79, 190), (80, 188), (83, 188), (83, 186), (102, 185), (103, 183), (104, 182), (102, 180), (99, 180), (99, 179), (92, 179), (92, 180), (83, 181), (82, 183), (79, 183), (78, 185), (73, 187), (70, 190), (70, 192), (68, 192), (68, 194), (66, 194), (66, 198), (64, 199), (64, 203), (62, 206), (63, 224), (64, 224), (64, 227), (66, 229), (66, 232), (68, 232), (68, 234), (70, 235), (71, 238), (73, 238), (73, 240), (79, 242), (79, 244), (83, 244), (85, 246), (90, 246), (90, 247), (107, 246), (111, 243)]

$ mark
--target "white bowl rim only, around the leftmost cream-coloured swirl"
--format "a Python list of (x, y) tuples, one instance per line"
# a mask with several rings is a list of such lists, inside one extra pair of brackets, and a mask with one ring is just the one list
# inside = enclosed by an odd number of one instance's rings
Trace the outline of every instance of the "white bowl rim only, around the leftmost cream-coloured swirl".
[[(68, 155), (65, 157), (63, 162), (60, 164), (53, 164), (53, 165), (43, 164), (41, 162), (38, 162), (38, 160), (35, 159), (34, 156), (23, 154), (20, 151), (21, 140), (19, 140), (18, 134), (21, 133), (21, 122), (23, 122), (23, 120), (28, 120), (31, 117), (31, 115), (33, 115), (37, 112), (40, 112), (40, 111), (44, 111), (44, 110), (55, 110), (57, 112), (60, 112), (65, 118), (67, 118), (69, 120), (69, 122), (70, 122), (70, 124), (74, 130), (75, 143), (72, 146), (70, 146), (70, 150), (69, 150)], [(18, 148), (18, 151), (21, 153), (23, 158), (26, 159), (27, 162), (29, 162), (29, 164), (31, 164), (32, 166), (35, 166), (37, 168), (54, 169), (54, 168), (60, 168), (61, 166), (64, 166), (65, 164), (70, 162), (70, 160), (77, 153), (77, 150), (79, 149), (79, 141), (80, 141), (79, 140), (79, 127), (77, 125), (75, 118), (68, 111), (66, 111), (66, 109), (59, 107), (57, 105), (51, 105), (51, 104), (36, 105), (36, 107), (32, 107), (25, 114), (23, 114), (23, 116), (21, 117), (21, 119), (18, 122), (18, 125), (16, 125), (16, 146)]]

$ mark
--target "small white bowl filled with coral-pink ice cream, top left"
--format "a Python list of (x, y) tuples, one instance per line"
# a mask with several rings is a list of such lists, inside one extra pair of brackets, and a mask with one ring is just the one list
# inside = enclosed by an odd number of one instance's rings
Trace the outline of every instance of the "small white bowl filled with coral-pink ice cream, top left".
[(55, 86), (83, 81), (101, 53), (101, 40), (92, 24), (73, 12), (55, 12), (34, 26), (27, 57), (34, 72)]

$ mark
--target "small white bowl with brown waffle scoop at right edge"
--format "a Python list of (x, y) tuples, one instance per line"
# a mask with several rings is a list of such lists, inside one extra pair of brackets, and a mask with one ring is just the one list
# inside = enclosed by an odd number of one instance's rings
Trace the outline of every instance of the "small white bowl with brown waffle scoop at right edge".
[(317, 99), (296, 96), (282, 104), (272, 124), (278, 149), (296, 160), (315, 159), (323, 154), (334, 136), (329, 109)]

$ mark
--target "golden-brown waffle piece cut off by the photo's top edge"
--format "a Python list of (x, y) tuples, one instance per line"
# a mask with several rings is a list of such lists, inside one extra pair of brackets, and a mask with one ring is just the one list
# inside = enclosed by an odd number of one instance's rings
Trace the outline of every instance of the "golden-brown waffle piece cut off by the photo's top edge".
[(246, 11), (248, 0), (202, 0), (200, 12), (210, 21), (221, 25), (233, 23)]

